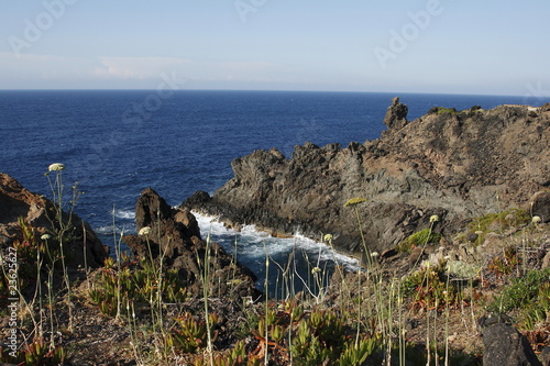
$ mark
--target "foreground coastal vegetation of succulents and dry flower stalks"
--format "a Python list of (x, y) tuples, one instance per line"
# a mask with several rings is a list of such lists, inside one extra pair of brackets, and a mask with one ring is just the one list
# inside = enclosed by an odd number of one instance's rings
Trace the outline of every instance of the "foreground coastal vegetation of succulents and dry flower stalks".
[[(541, 254), (548, 251), (550, 232), (548, 224), (526, 211), (473, 218), (455, 235), (457, 244), (466, 251), (483, 247), (486, 256), (458, 259), (453, 245), (446, 244), (451, 239), (433, 230), (439, 217), (432, 215), (430, 226), (404, 240), (392, 257), (370, 252), (363, 243), (369, 253), (365, 266), (356, 273), (337, 267), (330, 284), (317, 281), (315, 292), (293, 288), (275, 290), (285, 293), (279, 298), (240, 298), (213, 285), (220, 268), (212, 266), (218, 254), (209, 237), (204, 255), (197, 252), (196, 257), (202, 274), (200, 291), (194, 292), (177, 270), (166, 268), (165, 254), (154, 255), (151, 235), (158, 231), (150, 226), (139, 233), (147, 243), (145, 255), (116, 251), (100, 268), (75, 267), (66, 252), (67, 235), (74, 233), (72, 209), (67, 215), (61, 212), (69, 207), (58, 190), (62, 171), (51, 173), (58, 175), (52, 186), (51, 230), (38, 236), (20, 218), (21, 240), (12, 246), (18, 253), (16, 285), (2, 267), (2, 309), (8, 309), (10, 298), (19, 299), (21, 340), (15, 350), (3, 345), (3, 362), (481, 365), (480, 319), (486, 315), (515, 324), (536, 352), (548, 342), (550, 267)], [(365, 201), (350, 199), (345, 207), (355, 210)], [(74, 203), (72, 199), (69, 204)], [(358, 225), (362, 225), (359, 213)], [(472, 233), (477, 234), (468, 241)], [(488, 243), (495, 235), (497, 243)], [(332, 235), (322, 239), (330, 243)], [(120, 248), (120, 237), (113, 241)], [(7, 251), (2, 248), (3, 260)], [(266, 256), (266, 266), (270, 262)], [(304, 281), (314, 284), (326, 270), (311, 263), (310, 278)], [(239, 284), (235, 277), (226, 285)], [(13, 289), (18, 293), (10, 293)], [(90, 333), (88, 323), (99, 326)], [(111, 332), (120, 342), (112, 342)], [(98, 343), (101, 347), (94, 346)]]

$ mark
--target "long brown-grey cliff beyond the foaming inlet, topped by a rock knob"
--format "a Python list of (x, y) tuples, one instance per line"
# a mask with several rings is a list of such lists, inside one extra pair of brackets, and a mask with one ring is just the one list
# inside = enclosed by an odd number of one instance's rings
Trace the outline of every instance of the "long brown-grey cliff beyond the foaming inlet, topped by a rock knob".
[[(388, 130), (364, 144), (306, 143), (292, 158), (274, 148), (237, 158), (234, 177), (212, 198), (197, 192), (183, 206), (275, 232), (331, 233), (337, 247), (358, 252), (355, 208), (367, 245), (384, 249), (428, 228), (430, 215), (446, 233), (469, 218), (527, 206), (550, 187), (550, 104), (436, 108), (414, 121), (407, 110), (394, 99)], [(344, 208), (355, 197), (367, 201)]]

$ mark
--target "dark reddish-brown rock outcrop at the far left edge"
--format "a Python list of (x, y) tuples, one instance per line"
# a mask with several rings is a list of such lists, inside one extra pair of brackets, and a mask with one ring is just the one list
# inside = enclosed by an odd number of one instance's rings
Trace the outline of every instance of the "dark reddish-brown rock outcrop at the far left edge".
[[(4, 173), (0, 173), (0, 244), (2, 248), (11, 246), (14, 241), (22, 241), (19, 218), (23, 218), (34, 230), (34, 237), (40, 241), (41, 235), (52, 232), (52, 220), (54, 204), (46, 198), (32, 193), (23, 188), (15, 179)], [(48, 219), (50, 215), (50, 219)], [(63, 214), (63, 221), (68, 222), (68, 214)], [(66, 245), (69, 265), (85, 265), (86, 259), (90, 267), (103, 265), (108, 252), (91, 228), (82, 222), (76, 214), (72, 215), (70, 241)], [(54, 220), (55, 222), (55, 220)], [(51, 245), (53, 243), (48, 242)]]

